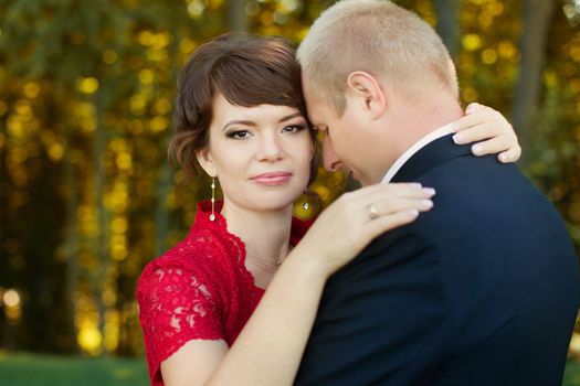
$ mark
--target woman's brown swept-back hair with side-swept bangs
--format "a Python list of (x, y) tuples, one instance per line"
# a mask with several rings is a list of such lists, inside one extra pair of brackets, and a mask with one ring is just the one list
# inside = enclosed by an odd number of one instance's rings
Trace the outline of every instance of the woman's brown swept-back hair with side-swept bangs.
[[(168, 157), (189, 175), (197, 175), (196, 151), (208, 146), (218, 93), (238, 106), (297, 108), (316, 143), (306, 115), (300, 69), (289, 44), (282, 37), (228, 33), (199, 46), (179, 74)], [(316, 153), (308, 183), (316, 178)]]

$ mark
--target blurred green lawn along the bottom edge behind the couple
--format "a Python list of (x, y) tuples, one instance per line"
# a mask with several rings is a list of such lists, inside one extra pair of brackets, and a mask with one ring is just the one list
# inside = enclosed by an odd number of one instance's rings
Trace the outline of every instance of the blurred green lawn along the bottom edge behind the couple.
[[(2, 386), (144, 386), (145, 360), (83, 358), (0, 352)], [(580, 386), (580, 363), (569, 361), (563, 386)]]

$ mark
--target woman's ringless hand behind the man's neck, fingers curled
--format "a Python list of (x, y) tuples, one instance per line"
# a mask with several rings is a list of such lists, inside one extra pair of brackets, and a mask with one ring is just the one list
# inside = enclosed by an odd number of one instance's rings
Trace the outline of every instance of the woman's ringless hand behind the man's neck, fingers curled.
[[(521, 156), (514, 128), (502, 114), (491, 107), (471, 104), (465, 109), (465, 117), (455, 121), (453, 140), (457, 144), (475, 143), (475, 156), (495, 154), (500, 162), (516, 162)], [(481, 141), (481, 142), (479, 142)]]

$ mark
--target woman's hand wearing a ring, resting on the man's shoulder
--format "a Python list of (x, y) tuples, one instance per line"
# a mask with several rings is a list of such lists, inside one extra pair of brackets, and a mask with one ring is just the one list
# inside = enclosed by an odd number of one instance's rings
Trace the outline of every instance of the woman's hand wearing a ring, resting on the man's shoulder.
[(294, 248), (328, 277), (382, 233), (413, 222), (433, 207), (435, 191), (419, 183), (389, 183), (342, 194)]

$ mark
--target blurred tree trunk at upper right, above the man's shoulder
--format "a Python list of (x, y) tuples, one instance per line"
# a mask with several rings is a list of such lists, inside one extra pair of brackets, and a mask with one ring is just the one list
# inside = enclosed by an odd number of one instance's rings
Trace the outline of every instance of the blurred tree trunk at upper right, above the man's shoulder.
[[(514, 89), (512, 124), (524, 150), (529, 140), (531, 120), (536, 114), (540, 87), (546, 37), (555, 10), (553, 0), (526, 0), (524, 31), (520, 40), (519, 77)], [(520, 163), (526, 165), (526, 152)]]

